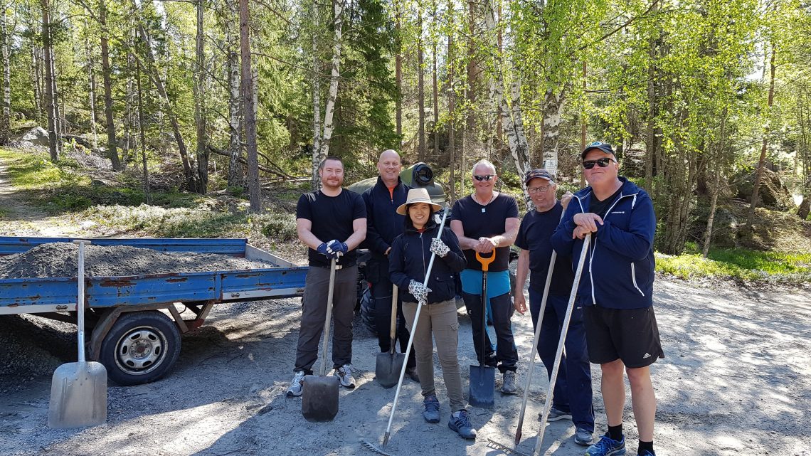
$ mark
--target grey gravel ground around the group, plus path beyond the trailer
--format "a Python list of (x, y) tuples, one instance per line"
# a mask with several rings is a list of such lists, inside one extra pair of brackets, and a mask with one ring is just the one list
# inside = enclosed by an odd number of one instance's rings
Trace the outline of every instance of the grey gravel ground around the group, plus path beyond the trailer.
[[(22, 200), (0, 164), (0, 234), (92, 237), (93, 226), (68, 215), (45, 216)], [(655, 444), (667, 454), (811, 456), (811, 288), (762, 288), (731, 282), (683, 282), (657, 277), (654, 307), (665, 358), (652, 368), (659, 401)], [(340, 411), (328, 423), (307, 422), (300, 398), (287, 398), (300, 299), (214, 307), (206, 325), (182, 338), (173, 371), (147, 385), (109, 385), (108, 419), (95, 428), (47, 426), (50, 374), (75, 361), (75, 326), (36, 316), (0, 316), (0, 454), (200, 455), (373, 454), (360, 439), (380, 442), (394, 389), (374, 380), (377, 339), (356, 319), (353, 364), (358, 387), (341, 389)], [(470, 319), (460, 313), (463, 382), (476, 364)], [(440, 424), (423, 421), (418, 384), (406, 381), (397, 405), (391, 454), (501, 454), (488, 439), (513, 441), (528, 373), (532, 329), (516, 315), (519, 394), (496, 393), (496, 407), (470, 407), (476, 441), (448, 429), (447, 395), (435, 358), (443, 403)], [(317, 366), (317, 364), (316, 364)], [(531, 454), (547, 380), (536, 364), (524, 441)], [(599, 368), (592, 366), (597, 432), (606, 419)], [(500, 376), (497, 376), (500, 377)], [(497, 378), (500, 385), (500, 378)], [(628, 390), (628, 395), (629, 395)], [(630, 397), (630, 396), (629, 396)], [(630, 400), (625, 411), (629, 454), (636, 450)], [(806, 423), (806, 424), (804, 424)], [(583, 454), (570, 421), (547, 426), (543, 452)]]

